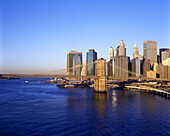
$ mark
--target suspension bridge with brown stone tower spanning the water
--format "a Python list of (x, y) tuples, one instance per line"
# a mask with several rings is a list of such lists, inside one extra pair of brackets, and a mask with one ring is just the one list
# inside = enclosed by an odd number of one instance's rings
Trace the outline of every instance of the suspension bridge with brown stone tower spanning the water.
[[(170, 79), (167, 78), (147, 78), (143, 75), (138, 76), (127, 76), (127, 77), (116, 77), (116, 76), (108, 76), (106, 74), (106, 60), (99, 59), (95, 62), (95, 75), (87, 75), (87, 76), (81, 76), (81, 75), (66, 75), (66, 74), (53, 74), (54, 72), (63, 71), (66, 69), (56, 70), (56, 71), (50, 71), (50, 72), (44, 72), (39, 74), (0, 74), (0, 77), (64, 77), (69, 79), (93, 79), (94, 80), (94, 90), (96, 92), (107, 92), (107, 80), (152, 80), (152, 81), (170, 81)], [(82, 66), (79, 66), (82, 67)], [(73, 69), (73, 68), (70, 68)], [(136, 73), (132, 71), (127, 71), (131, 75), (135, 75)]]

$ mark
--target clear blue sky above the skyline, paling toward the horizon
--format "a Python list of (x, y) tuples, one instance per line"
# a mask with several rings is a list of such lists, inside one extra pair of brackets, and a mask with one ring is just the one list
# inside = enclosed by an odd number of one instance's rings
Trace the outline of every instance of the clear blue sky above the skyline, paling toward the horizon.
[(123, 38), (170, 47), (169, 0), (0, 0), (0, 73), (41, 73), (66, 67), (70, 50), (94, 48), (108, 60)]

